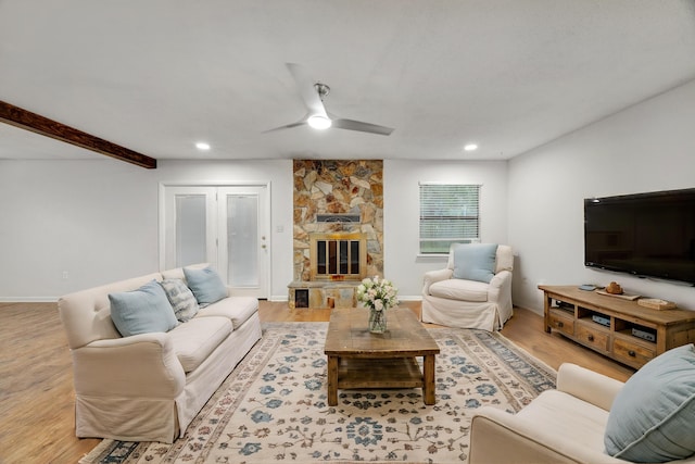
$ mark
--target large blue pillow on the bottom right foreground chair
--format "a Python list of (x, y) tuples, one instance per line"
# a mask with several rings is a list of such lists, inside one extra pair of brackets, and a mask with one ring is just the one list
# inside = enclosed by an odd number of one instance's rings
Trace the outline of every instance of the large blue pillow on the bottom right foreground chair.
[(610, 407), (604, 444), (611, 456), (659, 463), (695, 453), (695, 347), (646, 363)]

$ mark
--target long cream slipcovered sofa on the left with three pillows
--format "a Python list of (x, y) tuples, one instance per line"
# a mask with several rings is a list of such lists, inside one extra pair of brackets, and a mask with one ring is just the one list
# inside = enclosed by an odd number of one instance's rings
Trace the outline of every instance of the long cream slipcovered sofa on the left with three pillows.
[(59, 300), (73, 358), (78, 437), (173, 442), (261, 338), (257, 299), (232, 296), (167, 333), (122, 337), (111, 318), (109, 294), (165, 278), (185, 280), (184, 271)]

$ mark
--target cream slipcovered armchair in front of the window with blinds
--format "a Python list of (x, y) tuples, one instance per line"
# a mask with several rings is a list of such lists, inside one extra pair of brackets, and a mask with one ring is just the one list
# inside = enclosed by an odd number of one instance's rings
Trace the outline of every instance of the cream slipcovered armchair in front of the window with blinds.
[[(448, 327), (498, 330), (511, 317), (511, 247), (498, 244), (486, 281), (455, 278), (454, 256), (458, 248), (490, 246), (489, 243), (453, 243), (446, 268), (425, 274), (421, 321)], [(460, 255), (459, 255), (460, 260)]]

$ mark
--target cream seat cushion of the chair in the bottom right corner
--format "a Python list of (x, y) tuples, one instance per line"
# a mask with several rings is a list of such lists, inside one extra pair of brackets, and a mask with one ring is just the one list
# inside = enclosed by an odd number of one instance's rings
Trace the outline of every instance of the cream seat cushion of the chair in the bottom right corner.
[[(517, 413), (517, 417), (533, 428), (542, 427), (561, 437), (558, 441), (569, 440), (573, 447), (604, 450), (608, 411), (571, 394), (558, 390), (544, 391)], [(605, 456), (606, 461), (614, 461), (608, 454)]]

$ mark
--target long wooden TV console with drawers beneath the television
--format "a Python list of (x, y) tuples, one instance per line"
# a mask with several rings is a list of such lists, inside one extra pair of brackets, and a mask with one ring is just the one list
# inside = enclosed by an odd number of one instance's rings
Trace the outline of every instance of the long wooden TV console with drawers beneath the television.
[[(671, 348), (695, 342), (695, 311), (652, 310), (577, 286), (540, 285), (539, 289), (544, 294), (546, 333), (555, 329), (631, 367), (640, 368)], [(633, 329), (647, 339), (635, 336)]]

